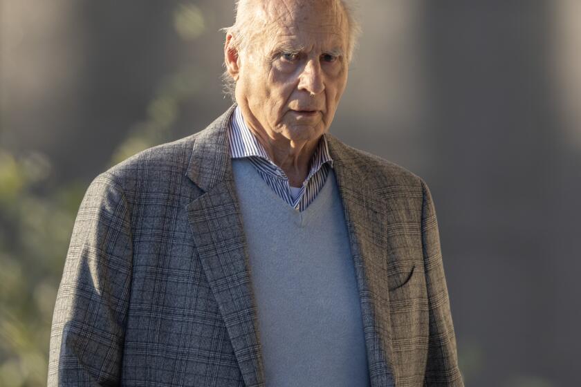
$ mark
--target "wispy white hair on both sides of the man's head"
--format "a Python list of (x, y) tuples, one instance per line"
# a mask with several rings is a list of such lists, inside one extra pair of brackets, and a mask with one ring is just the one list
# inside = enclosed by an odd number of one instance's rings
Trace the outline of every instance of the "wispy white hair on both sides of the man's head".
[[(353, 0), (333, 0), (338, 5), (342, 6), (345, 15), (347, 16), (347, 23), (349, 25), (349, 41), (347, 46), (347, 62), (351, 62), (353, 58), (353, 51), (356, 48), (358, 37), (361, 33), (361, 27), (355, 17), (355, 4)], [(236, 19), (234, 25), (222, 28), (221, 30), (226, 35), (231, 34), (232, 40), (230, 44), (239, 53), (248, 52), (252, 46), (252, 41), (257, 34), (262, 31), (259, 26), (264, 25), (265, 18), (261, 15), (264, 11), (265, 0), (237, 0), (236, 2)], [(222, 74), (222, 81), (224, 83), (224, 92), (232, 97), (234, 101), (234, 88), (236, 82), (230, 74), (228, 69)]]

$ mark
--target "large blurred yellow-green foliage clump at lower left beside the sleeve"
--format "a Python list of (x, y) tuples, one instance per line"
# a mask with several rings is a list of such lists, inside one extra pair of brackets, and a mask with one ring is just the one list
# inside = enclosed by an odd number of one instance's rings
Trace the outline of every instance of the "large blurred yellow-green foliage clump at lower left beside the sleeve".
[(46, 384), (50, 321), (66, 245), (82, 192), (48, 195), (42, 155), (0, 149), (0, 385)]

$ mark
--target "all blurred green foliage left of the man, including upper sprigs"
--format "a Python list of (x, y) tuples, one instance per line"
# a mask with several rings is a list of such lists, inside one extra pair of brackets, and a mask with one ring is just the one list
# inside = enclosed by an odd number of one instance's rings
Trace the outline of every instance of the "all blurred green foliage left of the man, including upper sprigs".
[[(183, 3), (174, 12), (181, 39), (206, 28), (201, 10)], [(110, 164), (169, 138), (181, 103), (199, 91), (202, 72), (184, 65), (163, 77), (147, 106), (113, 153)], [(104, 166), (104, 168), (107, 166)], [(46, 386), (50, 324), (77, 209), (89, 181), (50, 187), (43, 155), (0, 148), (0, 386)]]

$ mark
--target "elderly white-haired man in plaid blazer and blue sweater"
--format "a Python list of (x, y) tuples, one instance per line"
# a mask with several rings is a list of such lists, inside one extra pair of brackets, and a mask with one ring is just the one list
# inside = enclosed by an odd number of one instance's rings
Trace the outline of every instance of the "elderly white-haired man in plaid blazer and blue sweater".
[(434, 205), (329, 134), (340, 0), (240, 0), (236, 103), (96, 178), (59, 288), (50, 386), (462, 386)]

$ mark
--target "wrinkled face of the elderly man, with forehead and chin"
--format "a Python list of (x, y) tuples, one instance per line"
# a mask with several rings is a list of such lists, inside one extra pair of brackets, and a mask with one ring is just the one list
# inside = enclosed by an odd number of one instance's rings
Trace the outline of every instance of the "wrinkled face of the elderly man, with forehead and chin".
[(347, 17), (335, 1), (274, 1), (266, 30), (239, 57), (236, 100), (259, 133), (325, 133), (347, 84)]

